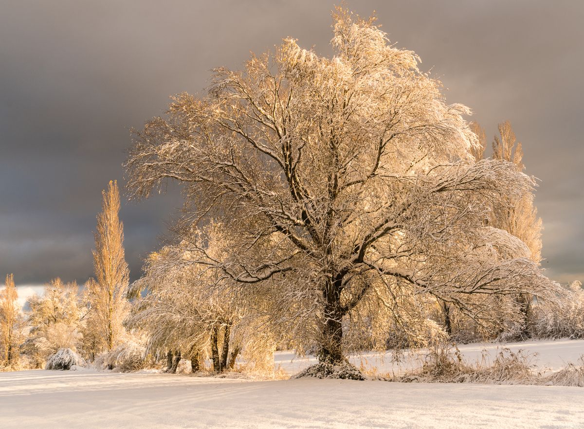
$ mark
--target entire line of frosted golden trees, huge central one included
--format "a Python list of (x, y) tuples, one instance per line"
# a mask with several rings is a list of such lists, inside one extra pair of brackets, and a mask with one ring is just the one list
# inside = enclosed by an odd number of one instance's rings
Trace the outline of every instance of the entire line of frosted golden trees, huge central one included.
[(128, 285), (110, 182), (81, 294), (51, 281), (23, 322), (7, 278), (8, 365), (17, 348), (41, 366), (68, 347), (110, 368), (226, 371), (242, 356), (259, 371), (277, 348), (338, 363), (447, 338), (584, 336), (579, 285), (541, 271), (535, 181), (510, 124), (485, 158), (482, 128), (412, 51), (374, 19), (333, 18), (332, 59), (286, 39), (136, 132), (128, 191), (182, 184), (175, 241)]

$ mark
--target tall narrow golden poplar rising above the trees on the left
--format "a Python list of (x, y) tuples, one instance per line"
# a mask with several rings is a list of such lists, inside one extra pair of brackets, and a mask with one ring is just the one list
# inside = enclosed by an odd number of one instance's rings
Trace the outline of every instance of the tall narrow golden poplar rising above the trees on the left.
[(120, 193), (117, 182), (110, 181), (102, 191), (102, 212), (98, 215), (93, 250), (95, 279), (86, 287), (91, 324), (95, 323), (103, 345), (111, 350), (123, 333), (123, 319), (128, 312), (127, 289), (130, 271), (124, 258), (124, 228), (119, 219)]

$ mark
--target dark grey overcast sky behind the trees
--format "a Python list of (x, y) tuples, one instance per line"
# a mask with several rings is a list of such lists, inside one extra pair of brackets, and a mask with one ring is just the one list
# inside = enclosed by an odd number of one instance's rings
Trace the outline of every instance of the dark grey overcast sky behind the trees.
[[(100, 191), (123, 183), (130, 128), (209, 69), (241, 68), (283, 37), (329, 54), (332, 1), (0, 0), (0, 275), (20, 285), (92, 275)], [(510, 120), (541, 179), (543, 265), (584, 280), (584, 2), (353, 1), (416, 51), (448, 102), (489, 139)], [(490, 151), (490, 149), (489, 149)], [(132, 278), (158, 246), (176, 189), (123, 201)]]

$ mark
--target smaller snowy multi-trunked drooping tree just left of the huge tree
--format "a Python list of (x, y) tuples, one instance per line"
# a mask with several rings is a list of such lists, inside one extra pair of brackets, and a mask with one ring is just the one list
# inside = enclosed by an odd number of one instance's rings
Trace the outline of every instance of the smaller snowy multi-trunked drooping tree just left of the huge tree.
[[(249, 337), (246, 311), (238, 306), (234, 288), (225, 285), (231, 280), (192, 257), (193, 243), (204, 245), (215, 257), (221, 253), (225, 236), (218, 229), (208, 225), (204, 233), (195, 231), (177, 245), (151, 253), (144, 277), (131, 288), (137, 299), (127, 325), (147, 333), (148, 351), (168, 350), (170, 372), (182, 357), (189, 358), (196, 371), (206, 354), (214, 371), (232, 369)], [(144, 290), (142, 297), (139, 292)]]

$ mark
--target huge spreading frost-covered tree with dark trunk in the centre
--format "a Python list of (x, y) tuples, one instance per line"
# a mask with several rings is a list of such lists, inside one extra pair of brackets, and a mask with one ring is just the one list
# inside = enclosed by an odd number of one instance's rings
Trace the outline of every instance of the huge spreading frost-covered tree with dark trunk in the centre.
[(374, 19), (333, 18), (332, 58), (285, 39), (244, 71), (215, 69), (208, 96), (173, 97), (135, 135), (133, 196), (182, 183), (179, 235), (214, 219), (230, 238), (220, 254), (192, 240), (189, 264), (321, 361), (427, 343), (440, 303), (496, 330), (520, 317), (510, 297), (553, 299), (526, 245), (486, 222), (534, 179), (475, 159), (470, 110)]

